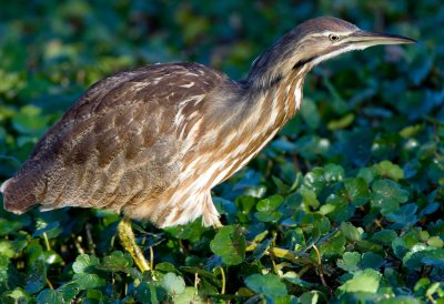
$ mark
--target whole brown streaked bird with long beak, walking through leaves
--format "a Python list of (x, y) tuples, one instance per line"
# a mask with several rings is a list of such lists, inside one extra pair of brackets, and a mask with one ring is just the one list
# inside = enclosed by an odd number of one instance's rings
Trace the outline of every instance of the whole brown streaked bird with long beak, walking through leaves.
[(245, 166), (292, 119), (316, 64), (379, 44), (415, 40), (364, 31), (333, 17), (307, 20), (259, 55), (243, 80), (199, 63), (158, 63), (100, 80), (38, 141), (1, 185), (21, 214), (94, 207), (123, 214), (118, 234), (149, 264), (131, 220), (158, 227), (221, 226), (211, 190)]

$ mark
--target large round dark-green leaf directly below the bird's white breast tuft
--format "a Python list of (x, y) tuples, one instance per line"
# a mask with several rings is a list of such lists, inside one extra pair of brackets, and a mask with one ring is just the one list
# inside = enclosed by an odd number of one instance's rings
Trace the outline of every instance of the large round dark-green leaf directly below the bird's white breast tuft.
[(245, 259), (245, 239), (235, 226), (224, 226), (210, 242), (210, 249), (226, 265), (236, 265)]

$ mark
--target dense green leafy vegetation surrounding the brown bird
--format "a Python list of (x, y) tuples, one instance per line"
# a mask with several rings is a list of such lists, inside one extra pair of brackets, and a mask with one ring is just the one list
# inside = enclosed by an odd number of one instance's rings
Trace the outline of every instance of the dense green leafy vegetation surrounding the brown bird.
[(420, 42), (312, 71), (300, 113), (214, 190), (223, 229), (137, 223), (151, 273), (122, 251), (118, 215), (1, 207), (1, 303), (444, 303), (442, 1), (291, 2), (2, 3), (1, 180), (90, 84), (122, 69), (198, 61), (240, 79), (315, 16)]

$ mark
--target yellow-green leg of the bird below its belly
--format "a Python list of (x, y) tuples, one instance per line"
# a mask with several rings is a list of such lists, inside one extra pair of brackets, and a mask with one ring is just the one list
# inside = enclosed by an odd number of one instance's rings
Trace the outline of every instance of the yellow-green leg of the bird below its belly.
[(130, 219), (123, 217), (120, 221), (118, 225), (118, 234), (123, 247), (131, 254), (132, 259), (134, 260), (140, 271), (142, 273), (149, 271), (150, 270), (149, 263), (143, 256), (143, 253), (138, 246), (138, 244), (135, 244), (134, 233), (132, 232), (131, 229)]

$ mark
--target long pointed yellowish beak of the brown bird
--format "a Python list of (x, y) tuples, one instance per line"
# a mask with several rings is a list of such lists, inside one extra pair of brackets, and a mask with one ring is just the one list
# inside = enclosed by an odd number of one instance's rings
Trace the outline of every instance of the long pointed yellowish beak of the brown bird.
[(373, 47), (380, 44), (405, 44), (416, 43), (416, 40), (391, 33), (355, 31), (349, 36), (349, 42), (361, 47)]

